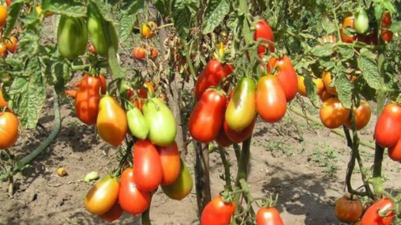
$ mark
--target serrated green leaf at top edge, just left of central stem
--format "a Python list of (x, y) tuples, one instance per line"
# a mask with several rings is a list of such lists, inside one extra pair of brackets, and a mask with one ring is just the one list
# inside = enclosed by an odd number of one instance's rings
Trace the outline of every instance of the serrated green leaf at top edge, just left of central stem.
[(209, 0), (202, 24), (202, 33), (213, 32), (229, 12), (230, 2), (228, 0)]

